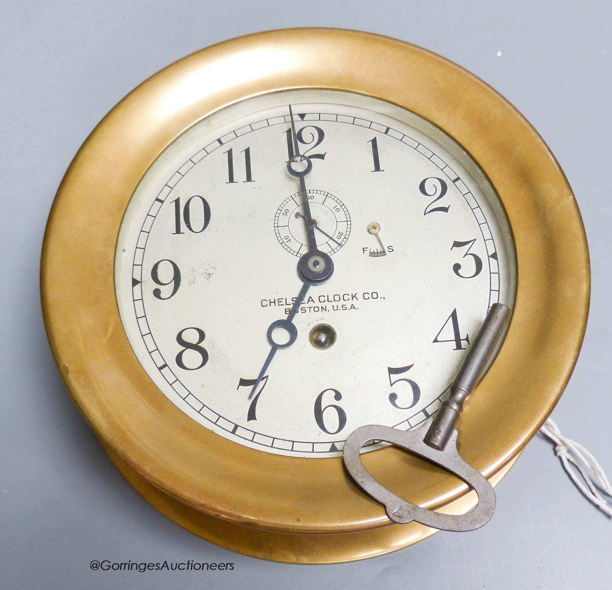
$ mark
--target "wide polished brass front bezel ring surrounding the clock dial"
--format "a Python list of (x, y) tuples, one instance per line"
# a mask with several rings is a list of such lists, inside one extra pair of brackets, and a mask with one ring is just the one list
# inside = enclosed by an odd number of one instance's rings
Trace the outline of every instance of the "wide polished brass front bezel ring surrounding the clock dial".
[[(147, 482), (234, 524), (286, 533), (376, 529), (390, 522), (383, 507), (356, 489), (340, 458), (242, 447), (177, 409), (136, 360), (115, 300), (119, 226), (155, 158), (220, 108), (294, 88), (352, 91), (408, 108), (463, 146), (498, 192), (516, 244), (517, 297), (504, 346), (461, 418), (459, 449), (487, 477), (515, 458), (578, 357), (589, 302), (583, 224), (558, 163), (526, 119), (474, 75), (408, 43), (337, 29), (271, 31), (198, 51), (149, 78), (95, 128), (62, 181), (43, 245), (43, 312), (76, 404)], [(394, 447), (368, 453), (364, 464), (425, 507), (467, 491)]]

